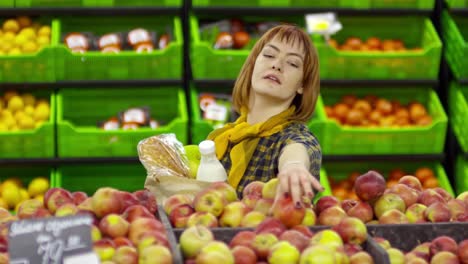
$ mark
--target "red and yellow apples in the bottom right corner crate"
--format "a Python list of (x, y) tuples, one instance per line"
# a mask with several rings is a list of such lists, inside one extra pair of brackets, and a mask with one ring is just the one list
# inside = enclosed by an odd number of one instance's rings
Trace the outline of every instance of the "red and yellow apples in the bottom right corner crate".
[(375, 237), (374, 240), (387, 251), (390, 263), (468, 263), (468, 239), (457, 243), (449, 236), (438, 236), (432, 241), (420, 241), (421, 243), (419, 245), (407, 252), (393, 247), (393, 245), (383, 237)]

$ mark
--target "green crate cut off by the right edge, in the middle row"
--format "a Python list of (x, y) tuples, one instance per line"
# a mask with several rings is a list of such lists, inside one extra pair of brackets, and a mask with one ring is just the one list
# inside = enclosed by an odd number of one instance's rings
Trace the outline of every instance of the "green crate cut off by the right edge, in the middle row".
[(449, 88), (449, 116), (464, 152), (468, 152), (468, 87), (452, 83)]

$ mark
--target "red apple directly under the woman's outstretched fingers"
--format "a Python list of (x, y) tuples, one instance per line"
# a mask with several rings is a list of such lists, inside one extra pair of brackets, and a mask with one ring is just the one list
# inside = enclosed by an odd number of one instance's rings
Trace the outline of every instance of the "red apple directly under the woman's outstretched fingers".
[(305, 216), (305, 208), (296, 207), (291, 197), (280, 197), (273, 207), (273, 217), (280, 220), (287, 228), (300, 225)]

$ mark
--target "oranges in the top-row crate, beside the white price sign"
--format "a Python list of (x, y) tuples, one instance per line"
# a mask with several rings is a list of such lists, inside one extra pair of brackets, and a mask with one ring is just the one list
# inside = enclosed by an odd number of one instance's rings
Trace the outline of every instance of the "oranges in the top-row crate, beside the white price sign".
[(381, 52), (393, 52), (393, 51), (420, 51), (421, 48), (409, 49), (405, 46), (405, 43), (399, 39), (380, 39), (378, 37), (369, 37), (363, 40), (358, 37), (349, 37), (342, 44), (338, 43), (336, 39), (331, 38), (328, 44), (342, 51), (381, 51)]

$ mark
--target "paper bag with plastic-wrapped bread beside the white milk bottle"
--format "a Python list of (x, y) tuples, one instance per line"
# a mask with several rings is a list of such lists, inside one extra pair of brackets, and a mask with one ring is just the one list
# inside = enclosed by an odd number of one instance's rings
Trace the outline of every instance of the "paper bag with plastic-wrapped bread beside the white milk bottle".
[(194, 155), (187, 155), (186, 147), (172, 133), (152, 136), (138, 143), (138, 157), (146, 169), (144, 187), (160, 204), (174, 194), (194, 196), (209, 185), (194, 179), (191, 172)]

